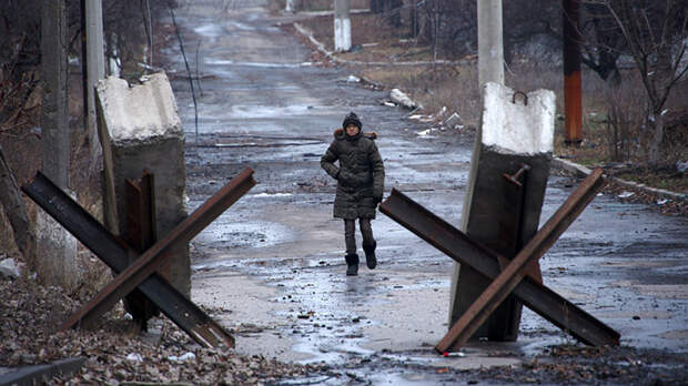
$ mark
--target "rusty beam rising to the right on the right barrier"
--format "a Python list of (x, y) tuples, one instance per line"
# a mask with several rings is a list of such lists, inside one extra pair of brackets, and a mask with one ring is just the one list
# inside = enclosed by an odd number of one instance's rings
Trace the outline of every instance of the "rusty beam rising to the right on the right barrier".
[(605, 185), (603, 170), (596, 169), (549, 217), (547, 223), (518, 252), (516, 257), (495, 277), (466, 313), (437, 343), (435, 349), (444, 353), (461, 348), (489, 315), (502, 304), (526, 275), (529, 263), (539, 260)]

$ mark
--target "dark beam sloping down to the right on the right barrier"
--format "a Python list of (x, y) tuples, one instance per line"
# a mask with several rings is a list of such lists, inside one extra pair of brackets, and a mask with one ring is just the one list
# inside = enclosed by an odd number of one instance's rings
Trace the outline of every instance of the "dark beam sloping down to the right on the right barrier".
[[(469, 238), (399, 191), (393, 190), (380, 205), (380, 211), (485, 277), (492, 280), (499, 275), (502, 270), (498, 254)], [(620, 335), (616, 331), (530, 277), (525, 277), (514, 288), (514, 294), (535, 313), (585, 344), (619, 344)]]

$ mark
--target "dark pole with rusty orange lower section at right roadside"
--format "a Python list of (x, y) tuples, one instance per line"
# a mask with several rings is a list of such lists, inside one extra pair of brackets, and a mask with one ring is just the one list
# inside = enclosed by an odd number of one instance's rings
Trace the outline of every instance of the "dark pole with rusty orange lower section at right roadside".
[(580, 0), (564, 0), (564, 126), (569, 145), (583, 141), (579, 11)]

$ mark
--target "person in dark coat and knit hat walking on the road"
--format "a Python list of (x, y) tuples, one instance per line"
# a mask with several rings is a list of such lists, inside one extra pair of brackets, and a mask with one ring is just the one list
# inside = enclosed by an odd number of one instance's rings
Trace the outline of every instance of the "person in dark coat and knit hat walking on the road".
[[(343, 129), (334, 131), (334, 141), (321, 159), (321, 166), (337, 180), (334, 199), (334, 216), (344, 219), (346, 243), (346, 274), (358, 273), (356, 253), (356, 219), (363, 236), (363, 251), (368, 268), (375, 268), (375, 246), (371, 220), (382, 201), (385, 184), (385, 166), (377, 146), (375, 133), (363, 133), (362, 123), (355, 113), (344, 118)], [(340, 161), (338, 167), (334, 164)]]

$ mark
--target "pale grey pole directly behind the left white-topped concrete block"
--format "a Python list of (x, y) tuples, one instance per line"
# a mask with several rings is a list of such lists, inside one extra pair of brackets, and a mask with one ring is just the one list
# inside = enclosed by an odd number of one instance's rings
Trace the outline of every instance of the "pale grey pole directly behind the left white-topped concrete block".
[(81, 0), (81, 9), (84, 14), (83, 31), (85, 33), (85, 90), (87, 100), (87, 130), (89, 138), (89, 154), (91, 167), (98, 166), (97, 160), (102, 153), (98, 140), (98, 120), (95, 113), (95, 83), (105, 77), (105, 62), (103, 53), (103, 12), (102, 0)]

